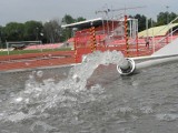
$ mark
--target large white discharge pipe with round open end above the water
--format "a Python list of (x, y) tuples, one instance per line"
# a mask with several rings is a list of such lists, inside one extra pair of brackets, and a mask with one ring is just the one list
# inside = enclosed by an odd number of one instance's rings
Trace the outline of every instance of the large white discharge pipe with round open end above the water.
[[(135, 61), (146, 60), (140, 63), (135, 63)], [(130, 75), (138, 72), (141, 69), (149, 66), (178, 61), (178, 54), (174, 55), (159, 55), (159, 57), (148, 57), (138, 59), (122, 59), (121, 63), (117, 65), (117, 71), (121, 75)]]

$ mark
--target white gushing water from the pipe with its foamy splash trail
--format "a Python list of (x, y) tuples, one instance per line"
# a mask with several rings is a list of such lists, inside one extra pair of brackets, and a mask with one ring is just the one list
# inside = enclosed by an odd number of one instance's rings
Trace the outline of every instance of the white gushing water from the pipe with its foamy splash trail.
[[(34, 74), (42, 76), (42, 72), (33, 72), (29, 75), (26, 89), (22, 90), (14, 99), (11, 100), (9, 114), (4, 115), (6, 120), (13, 122), (27, 117), (39, 115), (51, 108), (68, 106), (72, 108), (78, 104), (78, 100), (88, 102), (95, 100), (93, 93), (100, 93), (100, 99), (106, 99), (102, 94), (103, 89), (99, 85), (92, 86), (90, 93), (86, 91), (87, 80), (100, 64), (110, 63), (119, 64), (123, 55), (117, 51), (96, 51), (83, 57), (81, 64), (71, 69), (68, 78), (59, 83), (53, 79), (44, 80), (43, 83), (37, 83)], [(86, 91), (86, 92), (85, 92)], [(85, 93), (82, 93), (85, 92)], [(19, 117), (19, 114), (21, 115)], [(18, 115), (18, 119), (16, 119)]]

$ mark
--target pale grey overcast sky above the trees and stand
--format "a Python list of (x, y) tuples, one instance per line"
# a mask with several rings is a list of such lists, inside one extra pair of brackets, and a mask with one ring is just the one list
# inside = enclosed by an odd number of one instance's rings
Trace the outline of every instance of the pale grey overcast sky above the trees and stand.
[[(178, 0), (0, 0), (0, 25), (12, 21), (46, 22), (61, 19), (65, 14), (73, 18), (95, 19), (101, 16), (95, 12), (106, 9), (106, 7), (121, 9), (142, 6), (146, 8), (127, 10), (126, 13), (140, 13), (156, 19), (159, 12), (167, 11), (167, 6), (169, 12), (178, 13)], [(122, 12), (115, 12), (115, 14)]]

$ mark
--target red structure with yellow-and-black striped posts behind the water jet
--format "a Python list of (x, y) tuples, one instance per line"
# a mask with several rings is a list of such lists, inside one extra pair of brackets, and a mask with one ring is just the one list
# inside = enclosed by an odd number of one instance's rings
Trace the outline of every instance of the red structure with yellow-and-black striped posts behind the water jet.
[[(103, 25), (95, 27), (91, 25), (88, 29), (77, 31), (75, 34), (75, 57), (76, 62), (79, 63), (82, 60), (83, 54), (91, 53), (96, 50), (99, 51), (121, 51), (125, 57), (138, 57), (138, 55), (148, 55), (151, 53), (151, 50), (145, 48), (145, 44), (138, 44), (138, 35), (136, 39), (129, 37), (128, 31), (128, 17), (125, 16), (125, 21), (109, 21)], [(115, 34), (117, 28), (122, 28), (123, 34)], [(107, 28), (109, 27), (109, 28)], [(105, 31), (103, 29), (110, 29)], [(135, 42), (135, 43), (131, 43)]]

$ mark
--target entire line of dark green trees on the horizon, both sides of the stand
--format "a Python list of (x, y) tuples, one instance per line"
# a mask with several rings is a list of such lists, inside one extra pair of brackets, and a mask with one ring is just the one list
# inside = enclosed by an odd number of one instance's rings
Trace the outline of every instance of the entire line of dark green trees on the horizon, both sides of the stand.
[[(157, 20), (148, 19), (148, 27), (167, 24), (174, 20), (178, 14), (171, 12), (160, 12), (157, 16)], [(146, 29), (146, 16), (136, 14), (130, 16), (138, 19), (139, 31)], [(34, 41), (41, 40), (43, 43), (63, 42), (71, 37), (71, 29), (62, 29), (62, 24), (70, 24), (86, 20), (82, 17), (77, 19), (70, 14), (66, 14), (61, 20), (50, 20), (48, 22), (40, 21), (27, 21), (24, 23), (9, 22), (6, 27), (0, 25), (0, 43), (6, 41)], [(2, 45), (2, 44), (1, 44)]]

